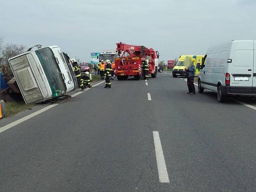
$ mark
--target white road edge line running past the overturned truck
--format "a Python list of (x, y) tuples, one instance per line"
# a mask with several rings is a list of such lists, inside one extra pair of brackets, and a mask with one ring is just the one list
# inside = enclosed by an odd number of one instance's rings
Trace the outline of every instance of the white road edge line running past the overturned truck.
[[(92, 85), (92, 87), (95, 87), (95, 86), (97, 86), (97, 85), (99, 85), (99, 84), (101, 84), (101, 83), (103, 83), (103, 82), (105, 82), (105, 81), (102, 81), (102, 82), (100, 82), (100, 83), (97, 83), (97, 84), (95, 84), (95, 85)], [(87, 90), (88, 90), (88, 89), (87, 89)], [(75, 94), (71, 95), (71, 97), (74, 97), (74, 95), (75, 95), (75, 96), (76, 96), (76, 95), (79, 95), (80, 93), (83, 93), (83, 92), (78, 92), (78, 94), (75, 93)], [(28, 116), (22, 117), (21, 119), (18, 119), (18, 120), (14, 121), (14, 122), (12, 122), (12, 123), (10, 123), (10, 124), (7, 124), (7, 125), (5, 125), (5, 126), (3, 126), (3, 127), (0, 128), (0, 133), (3, 132), (3, 131), (5, 131), (5, 130), (7, 130), (7, 129), (12, 128), (13, 126), (15, 126), (15, 125), (17, 125), (17, 124), (22, 123), (23, 121), (26, 121), (26, 120), (30, 119), (31, 117), (34, 117), (34, 116), (36, 116), (36, 115), (38, 115), (38, 114), (40, 114), (40, 113), (43, 113), (44, 111), (47, 111), (48, 109), (50, 109), (50, 108), (52, 108), (52, 107), (55, 107), (55, 106), (57, 106), (57, 105), (58, 105), (58, 103), (49, 105), (49, 106), (47, 106), (47, 107), (45, 107), (45, 108), (40, 109), (39, 111), (36, 111), (36, 112), (34, 112), (34, 113), (28, 115)]]

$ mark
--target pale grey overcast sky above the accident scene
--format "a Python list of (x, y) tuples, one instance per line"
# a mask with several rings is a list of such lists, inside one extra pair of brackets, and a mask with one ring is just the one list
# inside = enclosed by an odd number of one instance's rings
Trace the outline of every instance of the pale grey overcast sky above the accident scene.
[(58, 45), (70, 57), (117, 42), (145, 45), (160, 60), (204, 54), (212, 44), (256, 40), (256, 0), (0, 0), (5, 43)]

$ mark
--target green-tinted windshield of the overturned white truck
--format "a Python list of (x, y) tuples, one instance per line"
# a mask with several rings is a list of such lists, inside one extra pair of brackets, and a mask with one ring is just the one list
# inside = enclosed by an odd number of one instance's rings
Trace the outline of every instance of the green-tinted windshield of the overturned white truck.
[(43, 49), (36, 50), (36, 55), (51, 86), (53, 97), (57, 97), (58, 95), (65, 93), (67, 89), (52, 50), (49, 47), (45, 47)]

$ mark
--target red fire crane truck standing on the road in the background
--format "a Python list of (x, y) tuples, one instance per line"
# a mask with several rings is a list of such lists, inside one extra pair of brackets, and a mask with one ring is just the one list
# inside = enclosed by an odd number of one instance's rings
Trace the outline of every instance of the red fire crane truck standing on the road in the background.
[(129, 45), (124, 42), (116, 44), (115, 76), (118, 80), (126, 80), (129, 76), (137, 79), (144, 78), (143, 62), (149, 60), (149, 73), (155, 78), (159, 63), (159, 53), (143, 45)]

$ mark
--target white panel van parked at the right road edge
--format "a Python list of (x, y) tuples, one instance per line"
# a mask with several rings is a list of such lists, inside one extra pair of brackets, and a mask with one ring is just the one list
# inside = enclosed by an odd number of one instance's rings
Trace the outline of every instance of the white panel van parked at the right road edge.
[(229, 41), (211, 46), (203, 59), (198, 92), (217, 92), (224, 102), (228, 95), (256, 96), (256, 41)]

